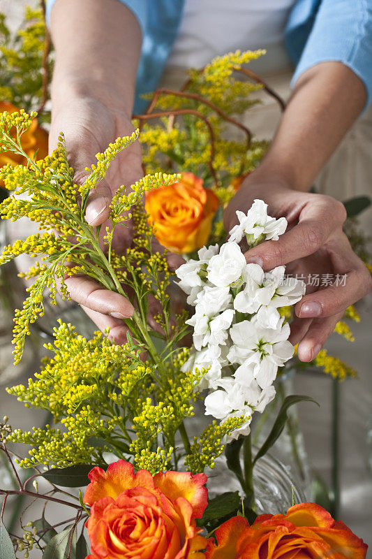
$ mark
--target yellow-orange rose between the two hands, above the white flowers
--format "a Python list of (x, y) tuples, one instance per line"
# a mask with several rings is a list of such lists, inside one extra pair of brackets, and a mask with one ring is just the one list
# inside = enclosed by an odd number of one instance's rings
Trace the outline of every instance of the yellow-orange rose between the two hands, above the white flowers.
[(183, 173), (180, 182), (146, 193), (145, 208), (156, 238), (173, 252), (200, 249), (208, 240), (218, 198), (202, 184), (193, 173)]

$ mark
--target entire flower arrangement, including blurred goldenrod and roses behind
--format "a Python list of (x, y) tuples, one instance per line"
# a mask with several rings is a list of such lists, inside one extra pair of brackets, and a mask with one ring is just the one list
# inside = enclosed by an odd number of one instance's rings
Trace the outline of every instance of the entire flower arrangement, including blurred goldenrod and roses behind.
[[(47, 99), (50, 46), (38, 20), (40, 14), (28, 11), (29, 24), (17, 45), (1, 48), (2, 67), (9, 69), (13, 57), (19, 70), (11, 87), (2, 85), (4, 96), (27, 110), (37, 105), (44, 110)], [(3, 20), (1, 33), (9, 43)], [(255, 103), (251, 93), (262, 87), (283, 108), (283, 101), (243, 66), (262, 54), (217, 57), (191, 71), (179, 92), (158, 89), (146, 114), (134, 117), (140, 135), (117, 138), (97, 154), (80, 187), (73, 184), (63, 134), (57, 150), (45, 157), (46, 134), (36, 113), (3, 104), (0, 181), (11, 194), (1, 203), (0, 215), (27, 216), (40, 226), (40, 233), (8, 245), (0, 256), (0, 265), (24, 253), (38, 258), (23, 274), (35, 281), (23, 309), (15, 313), (15, 362), (30, 325), (43, 314), (45, 291), (52, 303), (57, 289), (69, 297), (66, 277), (87, 275), (130, 298), (134, 314), (124, 318), (128, 335), (122, 346), (109, 341), (107, 332), (87, 340), (60, 321), (54, 343), (45, 345), (50, 355), (40, 372), (27, 386), (8, 389), (24, 405), (46, 410), (53, 424), (23, 432), (13, 430), (7, 417), (0, 423), (0, 450), (13, 478), (12, 488), (0, 488), (2, 557), (14, 559), (22, 552), (27, 557), (34, 548), (45, 559), (366, 557), (362, 540), (318, 505), (294, 504), (281, 511), (285, 514), (257, 516), (255, 511), (255, 463), (281, 435), (290, 406), (311, 400), (285, 398), (267, 439), (252, 449), (252, 416), (264, 412), (275, 395), (274, 380), (292, 366), (290, 307), (304, 293), (303, 282), (287, 281), (283, 266), (264, 273), (246, 263), (239, 247), (241, 240), (248, 247), (277, 240), (285, 219), (267, 215), (267, 206), (257, 200), (247, 214), (238, 213), (239, 224), (227, 242), (221, 220), (224, 206), (267, 148), (235, 115)], [(22, 64), (27, 91), (19, 80)], [(237, 74), (250, 80), (237, 80)], [(239, 139), (225, 137), (227, 124), (239, 129)], [(119, 188), (105, 231), (90, 226), (84, 219), (89, 191), (137, 138), (150, 174)], [(130, 220), (133, 245), (117, 254), (114, 230)], [(156, 249), (154, 235), (186, 256), (176, 272), (176, 288), (168, 251)], [(191, 312), (182, 306), (174, 312), (174, 289), (187, 296)], [(358, 319), (353, 307), (346, 318)], [(344, 321), (336, 332), (352, 339)], [(325, 350), (314, 363), (339, 379), (355, 375)], [(191, 419), (198, 402), (213, 419), (195, 434)], [(15, 455), (13, 442), (28, 444), (29, 456)], [(208, 498), (204, 472), (213, 470), (224, 451), (241, 492)], [(33, 474), (23, 479), (14, 462)], [(39, 491), (41, 477), (50, 491)], [(74, 488), (86, 486), (84, 495), (77, 495)], [(75, 516), (50, 525), (43, 513), (15, 537), (3, 526), (12, 495), (64, 504)]]

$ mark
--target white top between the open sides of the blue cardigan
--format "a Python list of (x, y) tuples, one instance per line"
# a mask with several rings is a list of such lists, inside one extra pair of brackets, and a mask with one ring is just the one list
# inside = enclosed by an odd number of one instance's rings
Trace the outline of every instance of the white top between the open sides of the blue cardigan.
[[(216, 55), (265, 48), (250, 67), (261, 72), (289, 65), (285, 24), (296, 0), (186, 0), (168, 66), (199, 68)], [(255, 66), (253, 68), (253, 65)], [(259, 66), (259, 68), (258, 68)]]

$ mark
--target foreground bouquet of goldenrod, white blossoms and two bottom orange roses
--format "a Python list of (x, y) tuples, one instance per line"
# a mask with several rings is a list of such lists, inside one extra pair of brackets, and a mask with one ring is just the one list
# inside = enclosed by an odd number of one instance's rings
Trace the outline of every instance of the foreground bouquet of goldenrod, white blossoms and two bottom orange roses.
[[(45, 346), (50, 354), (40, 372), (27, 386), (8, 389), (25, 405), (46, 410), (54, 425), (23, 432), (3, 419), (0, 444), (14, 485), (0, 488), (1, 520), (12, 495), (42, 500), (45, 507), (66, 505), (75, 516), (52, 525), (44, 507), (40, 518), (23, 526), (22, 537), (9, 535), (1, 524), (2, 556), (11, 559), (23, 551), (28, 556), (36, 548), (44, 559), (84, 558), (89, 547), (94, 559), (296, 553), (364, 558), (365, 544), (315, 504), (293, 503), (288, 511), (257, 516), (255, 463), (281, 435), (288, 408), (311, 400), (285, 398), (269, 436), (252, 449), (252, 416), (274, 398), (274, 379), (295, 351), (288, 342), (288, 307), (302, 297), (304, 284), (287, 281), (284, 267), (264, 273), (247, 264), (238, 243), (278, 239), (285, 219), (267, 215), (258, 200), (246, 215), (238, 215), (227, 242), (200, 247), (176, 272), (191, 316), (185, 310), (174, 313), (168, 252), (154, 245), (154, 220), (141, 200), (147, 192), (180, 184), (181, 177), (155, 173), (119, 188), (110, 205), (110, 226), (101, 231), (84, 220), (89, 191), (114, 157), (137, 140), (137, 132), (97, 154), (87, 182), (77, 187), (62, 134), (57, 150), (45, 159), (24, 151), (21, 138), (34, 117), (23, 111), (0, 115), (3, 150), (27, 158), (25, 166), (0, 170), (13, 192), (1, 203), (1, 217), (27, 216), (43, 231), (8, 245), (0, 256), (1, 265), (24, 253), (38, 258), (27, 273), (35, 278), (29, 296), (15, 312), (15, 361), (29, 326), (43, 314), (43, 292), (50, 292), (53, 303), (57, 289), (68, 298), (66, 277), (87, 275), (130, 298), (133, 315), (124, 317), (128, 334), (122, 346), (107, 333), (87, 340), (73, 325), (60, 323), (54, 343)], [(117, 254), (114, 229), (130, 220), (133, 245)], [(192, 348), (185, 341), (190, 327)], [(213, 418), (196, 433), (190, 428), (195, 402)], [(13, 442), (30, 445), (29, 456), (15, 455)], [(204, 472), (213, 470), (223, 452), (241, 491), (221, 491), (208, 500)], [(13, 456), (32, 474), (22, 478)], [(49, 484), (47, 490), (39, 491), (40, 479)]]

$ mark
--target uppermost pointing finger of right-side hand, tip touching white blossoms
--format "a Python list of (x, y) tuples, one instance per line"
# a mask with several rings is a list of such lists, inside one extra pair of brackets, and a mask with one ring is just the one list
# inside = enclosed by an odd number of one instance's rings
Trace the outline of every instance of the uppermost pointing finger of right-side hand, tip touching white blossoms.
[(321, 198), (303, 210), (297, 225), (278, 240), (262, 242), (248, 250), (244, 256), (248, 263), (258, 263), (264, 270), (272, 270), (295, 259), (304, 258), (316, 252), (325, 244), (336, 226), (341, 226), (345, 208), (332, 198)]

